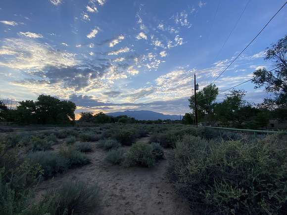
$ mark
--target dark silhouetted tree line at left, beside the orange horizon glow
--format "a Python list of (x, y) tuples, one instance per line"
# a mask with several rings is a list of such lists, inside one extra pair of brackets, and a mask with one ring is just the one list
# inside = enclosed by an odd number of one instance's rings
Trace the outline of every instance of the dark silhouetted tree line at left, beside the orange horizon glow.
[(0, 121), (18, 124), (61, 125), (75, 121), (76, 104), (50, 95), (39, 95), (36, 101), (20, 101), (15, 108), (8, 108), (0, 101)]

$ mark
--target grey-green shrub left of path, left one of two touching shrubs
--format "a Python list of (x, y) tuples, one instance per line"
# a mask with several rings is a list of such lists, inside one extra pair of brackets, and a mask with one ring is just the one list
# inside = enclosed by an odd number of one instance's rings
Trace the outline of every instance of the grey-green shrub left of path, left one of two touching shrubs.
[(68, 169), (68, 160), (55, 152), (38, 151), (28, 155), (33, 163), (38, 163), (44, 170), (44, 177), (48, 178)]

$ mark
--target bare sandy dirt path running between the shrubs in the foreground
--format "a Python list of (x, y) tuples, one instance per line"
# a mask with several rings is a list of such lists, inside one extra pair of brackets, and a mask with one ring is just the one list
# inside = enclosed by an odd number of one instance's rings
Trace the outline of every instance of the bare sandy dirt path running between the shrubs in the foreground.
[(90, 165), (44, 181), (38, 191), (59, 187), (66, 180), (97, 182), (102, 206), (95, 215), (189, 215), (189, 207), (175, 194), (165, 175), (170, 153), (165, 150), (167, 159), (153, 168), (123, 168), (106, 163), (106, 152), (95, 149), (89, 154)]

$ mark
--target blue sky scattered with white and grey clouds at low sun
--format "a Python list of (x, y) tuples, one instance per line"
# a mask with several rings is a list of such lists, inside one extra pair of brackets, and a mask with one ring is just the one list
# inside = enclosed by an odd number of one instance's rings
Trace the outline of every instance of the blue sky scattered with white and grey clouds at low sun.
[[(210, 84), (285, 0), (1, 0), (0, 98), (68, 99), (76, 113), (190, 112), (193, 75)], [(215, 82), (252, 78), (287, 33), (287, 6)], [(264, 88), (239, 86), (261, 102)], [(222, 100), (224, 94), (218, 96)]]

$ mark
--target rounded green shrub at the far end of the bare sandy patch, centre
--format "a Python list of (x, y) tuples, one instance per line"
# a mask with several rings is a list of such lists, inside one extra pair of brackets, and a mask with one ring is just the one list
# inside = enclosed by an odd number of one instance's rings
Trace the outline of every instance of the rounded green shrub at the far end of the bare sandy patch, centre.
[(155, 159), (152, 154), (152, 147), (146, 143), (135, 143), (126, 154), (124, 164), (126, 167), (131, 166), (154, 166)]

